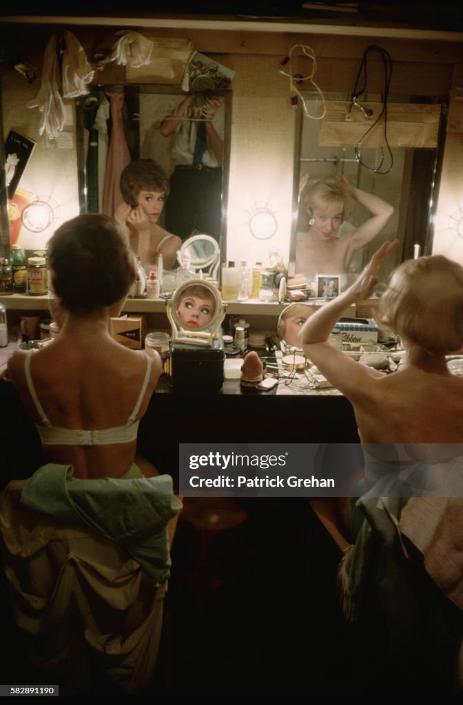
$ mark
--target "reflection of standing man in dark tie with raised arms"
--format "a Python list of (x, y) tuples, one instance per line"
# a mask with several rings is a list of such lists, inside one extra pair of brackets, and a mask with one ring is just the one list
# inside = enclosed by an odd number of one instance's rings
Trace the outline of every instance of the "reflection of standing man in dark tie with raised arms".
[(167, 228), (182, 240), (195, 231), (220, 239), (224, 105), (214, 96), (188, 95), (160, 124), (164, 137), (173, 135), (171, 196)]

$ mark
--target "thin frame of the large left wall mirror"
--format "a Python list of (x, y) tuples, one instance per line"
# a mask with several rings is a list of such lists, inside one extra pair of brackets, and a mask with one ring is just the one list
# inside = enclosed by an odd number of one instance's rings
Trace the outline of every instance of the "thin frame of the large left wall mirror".
[[(205, 90), (205, 91), (184, 91), (179, 86), (163, 85), (156, 83), (143, 82), (126, 82), (124, 85), (113, 85), (109, 83), (92, 83), (88, 85), (88, 92), (102, 92), (109, 94), (111, 92), (124, 92), (139, 97), (140, 94), (148, 93), (154, 95), (171, 95), (172, 97), (186, 98), (188, 95), (219, 97), (224, 100), (224, 160), (222, 164), (222, 198), (221, 198), (221, 216), (220, 216), (220, 260), (224, 261), (227, 258), (227, 207), (229, 195), (229, 174), (230, 174), (230, 153), (231, 153), (231, 135), (232, 135), (232, 89), (229, 90)], [(76, 98), (76, 141), (77, 141), (77, 168), (78, 168), (78, 189), (79, 189), (79, 205), (80, 213), (87, 212), (85, 194), (88, 188), (88, 174), (85, 164), (85, 140), (83, 139), (83, 121), (81, 116), (82, 102), (85, 95)], [(139, 103), (139, 101), (138, 101)], [(140, 120), (134, 116), (135, 119)], [(133, 147), (131, 154), (132, 159), (139, 159), (140, 155), (140, 140), (138, 130), (138, 146)], [(129, 147), (129, 151), (130, 147)], [(152, 157), (153, 159), (155, 157)], [(170, 176), (169, 176), (170, 178)], [(172, 233), (176, 235), (176, 233)]]

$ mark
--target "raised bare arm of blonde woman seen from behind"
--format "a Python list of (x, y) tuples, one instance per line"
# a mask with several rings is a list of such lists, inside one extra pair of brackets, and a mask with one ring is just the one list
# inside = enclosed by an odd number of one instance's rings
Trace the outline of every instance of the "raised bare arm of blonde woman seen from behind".
[(371, 367), (355, 362), (349, 355), (327, 341), (347, 307), (371, 296), (378, 281), (381, 262), (398, 244), (399, 240), (383, 243), (354, 284), (309, 317), (299, 334), (308, 360), (311, 360), (331, 384), (350, 399), (361, 392), (363, 386), (368, 383), (368, 379), (382, 375)]

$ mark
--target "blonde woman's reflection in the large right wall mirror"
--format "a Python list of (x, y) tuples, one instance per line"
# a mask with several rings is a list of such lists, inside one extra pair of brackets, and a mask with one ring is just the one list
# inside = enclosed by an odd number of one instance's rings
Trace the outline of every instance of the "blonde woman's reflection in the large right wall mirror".
[[(339, 237), (339, 227), (353, 210), (352, 199), (372, 215)], [(302, 196), (302, 205), (310, 220), (308, 231), (298, 235), (296, 271), (307, 277), (309, 286), (315, 281), (315, 274), (345, 274), (354, 252), (371, 242), (394, 214), (390, 204), (355, 188), (340, 175), (315, 182)]]

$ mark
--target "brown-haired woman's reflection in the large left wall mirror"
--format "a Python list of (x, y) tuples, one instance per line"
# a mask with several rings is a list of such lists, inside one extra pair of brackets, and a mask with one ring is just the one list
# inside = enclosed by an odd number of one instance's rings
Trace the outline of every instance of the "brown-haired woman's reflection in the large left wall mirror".
[(164, 268), (172, 269), (181, 239), (157, 225), (169, 195), (169, 180), (162, 166), (153, 159), (131, 161), (121, 174), (121, 194), (125, 203), (116, 210), (115, 218), (126, 228), (143, 268), (156, 264), (161, 254)]

